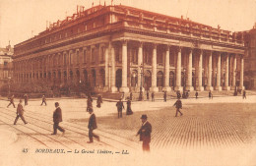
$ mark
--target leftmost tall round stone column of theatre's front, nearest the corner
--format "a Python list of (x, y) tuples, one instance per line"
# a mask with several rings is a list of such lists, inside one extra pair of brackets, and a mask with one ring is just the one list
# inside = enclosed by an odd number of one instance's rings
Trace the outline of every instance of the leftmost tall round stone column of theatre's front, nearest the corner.
[(121, 92), (129, 92), (127, 87), (127, 40), (122, 41), (122, 87)]

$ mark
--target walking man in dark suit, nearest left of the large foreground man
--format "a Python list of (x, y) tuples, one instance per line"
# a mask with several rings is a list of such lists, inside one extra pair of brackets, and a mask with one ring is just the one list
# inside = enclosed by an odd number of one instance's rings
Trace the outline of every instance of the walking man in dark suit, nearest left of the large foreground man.
[(88, 129), (89, 129), (89, 141), (88, 143), (93, 143), (94, 139), (96, 138), (99, 141), (99, 137), (94, 134), (94, 130), (96, 130), (96, 114), (94, 113), (93, 108), (89, 108), (89, 113), (91, 114), (88, 122)]

